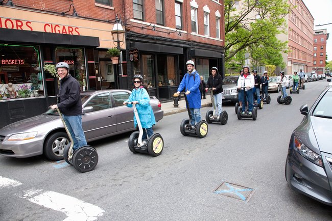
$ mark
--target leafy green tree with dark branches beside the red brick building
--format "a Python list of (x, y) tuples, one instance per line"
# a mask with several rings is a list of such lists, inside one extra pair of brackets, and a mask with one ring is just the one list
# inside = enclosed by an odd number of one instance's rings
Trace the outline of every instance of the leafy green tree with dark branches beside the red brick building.
[[(286, 20), (290, 6), (285, 0), (242, 0), (236, 11), (234, 0), (225, 0), (225, 61), (251, 45), (272, 45), (274, 51), (285, 50), (284, 42), (276, 43), (272, 37), (286, 34)], [(250, 17), (256, 15), (258, 19)], [(270, 48), (271, 49), (271, 48)], [(280, 52), (279, 52), (280, 53)]]

